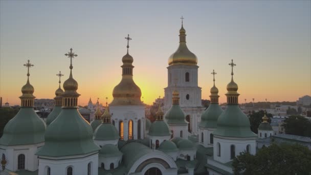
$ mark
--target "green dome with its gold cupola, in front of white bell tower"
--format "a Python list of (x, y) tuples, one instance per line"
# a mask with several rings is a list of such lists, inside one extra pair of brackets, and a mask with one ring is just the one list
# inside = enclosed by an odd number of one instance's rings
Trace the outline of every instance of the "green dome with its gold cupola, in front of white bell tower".
[(179, 105), (179, 92), (174, 90), (172, 97), (172, 106), (165, 115), (168, 124), (188, 124), (185, 120), (185, 113)]

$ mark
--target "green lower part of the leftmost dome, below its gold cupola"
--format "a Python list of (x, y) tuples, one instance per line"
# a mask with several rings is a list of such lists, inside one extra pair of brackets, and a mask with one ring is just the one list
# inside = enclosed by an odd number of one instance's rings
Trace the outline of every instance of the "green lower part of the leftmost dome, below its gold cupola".
[(28, 145), (45, 141), (46, 126), (33, 107), (21, 107), (4, 127), (0, 145)]

